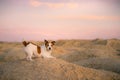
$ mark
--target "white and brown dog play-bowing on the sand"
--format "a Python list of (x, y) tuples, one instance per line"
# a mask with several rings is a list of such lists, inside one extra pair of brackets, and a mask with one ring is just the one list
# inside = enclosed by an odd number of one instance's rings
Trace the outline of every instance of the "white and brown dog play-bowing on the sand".
[(32, 61), (32, 57), (55, 58), (51, 55), (55, 41), (44, 40), (44, 45), (38, 46), (32, 42), (22, 42), (26, 53), (26, 59)]

